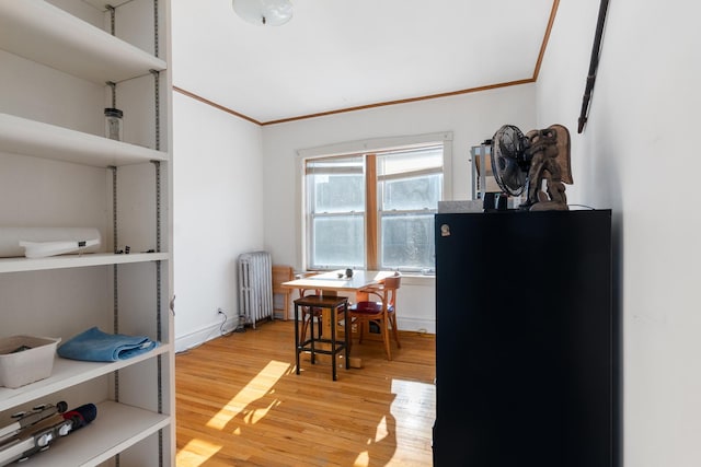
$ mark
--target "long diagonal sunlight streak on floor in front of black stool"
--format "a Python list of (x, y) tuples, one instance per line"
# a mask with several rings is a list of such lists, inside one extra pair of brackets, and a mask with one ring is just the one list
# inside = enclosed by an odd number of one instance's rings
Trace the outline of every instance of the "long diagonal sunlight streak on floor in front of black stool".
[[(216, 430), (223, 430), (227, 424), (234, 417), (244, 411), (251, 402), (260, 399), (263, 395), (267, 394), (275, 386), (277, 381), (289, 371), (289, 367), (290, 364), (288, 362), (278, 362), (272, 360), (262, 371), (258, 372), (256, 377), (251, 380), (239, 392), (239, 394), (237, 394), (231, 400), (229, 400), (227, 405), (221, 408), (221, 410), (219, 410), (211, 419), (209, 419), (209, 421), (207, 422), (207, 427)], [(255, 423), (261, 418), (265, 417), (271, 406), (268, 406), (266, 409), (245, 413), (244, 419), (246, 423)]]

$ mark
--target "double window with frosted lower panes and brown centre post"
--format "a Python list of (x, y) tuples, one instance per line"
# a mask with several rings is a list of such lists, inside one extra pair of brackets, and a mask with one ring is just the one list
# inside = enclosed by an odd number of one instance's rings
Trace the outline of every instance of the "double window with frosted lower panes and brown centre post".
[(309, 269), (433, 270), (443, 141), (304, 157)]

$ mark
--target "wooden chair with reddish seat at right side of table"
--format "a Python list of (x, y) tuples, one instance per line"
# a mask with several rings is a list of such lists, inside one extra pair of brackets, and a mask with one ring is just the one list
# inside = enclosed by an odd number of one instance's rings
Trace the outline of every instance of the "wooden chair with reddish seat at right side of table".
[[(402, 347), (397, 329), (397, 290), (400, 288), (401, 279), (402, 277), (397, 273), (384, 278), (378, 285), (363, 289), (361, 292), (368, 294), (368, 300), (355, 303), (348, 308), (348, 320), (358, 331), (359, 343), (363, 343), (363, 334), (365, 328), (369, 328), (370, 323), (379, 327), (387, 360), (392, 360), (390, 328), (397, 347)], [(379, 301), (372, 301), (372, 297), (378, 297)]]

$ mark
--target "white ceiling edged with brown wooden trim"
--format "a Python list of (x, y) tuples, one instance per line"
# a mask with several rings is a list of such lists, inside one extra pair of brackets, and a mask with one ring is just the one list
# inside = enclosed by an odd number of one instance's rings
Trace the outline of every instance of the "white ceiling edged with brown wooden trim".
[(173, 85), (257, 122), (531, 80), (558, 0), (172, 0)]

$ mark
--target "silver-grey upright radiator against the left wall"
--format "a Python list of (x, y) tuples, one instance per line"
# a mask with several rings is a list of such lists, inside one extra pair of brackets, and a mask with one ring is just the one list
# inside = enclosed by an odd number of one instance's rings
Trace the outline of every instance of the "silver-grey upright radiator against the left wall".
[(273, 319), (273, 267), (271, 254), (239, 255), (239, 327)]

